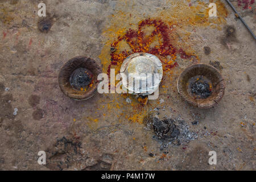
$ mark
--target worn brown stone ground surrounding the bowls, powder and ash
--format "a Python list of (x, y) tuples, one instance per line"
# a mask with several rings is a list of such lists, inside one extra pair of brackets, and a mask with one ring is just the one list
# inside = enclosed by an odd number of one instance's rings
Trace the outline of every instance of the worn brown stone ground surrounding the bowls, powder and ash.
[[(173, 39), (174, 46), (193, 49), (197, 62), (220, 63), (215, 65), (226, 82), (222, 101), (207, 110), (186, 104), (176, 81), (191, 61), (177, 56), (179, 66), (164, 77), (158, 100), (148, 103), (151, 114), (181, 119), (197, 134), (178, 146), (154, 138), (146, 129), (145, 107), (132, 96), (131, 103), (119, 94), (98, 93), (73, 101), (60, 91), (58, 74), (80, 55), (104, 67), (119, 30), (135, 29), (147, 18), (172, 26), (170, 18), (185, 17), (197, 3), (207, 7), (209, 1), (48, 0), (47, 33), (38, 29), (40, 2), (0, 1), (0, 169), (255, 170), (255, 40), (225, 1), (217, 6), (227, 12), (219, 23), (180, 26), (177, 18), (179, 38)], [(232, 3), (255, 30), (256, 3)], [(228, 27), (235, 30), (232, 36)], [(38, 164), (39, 151), (46, 151), (46, 165)], [(216, 165), (208, 164), (209, 151), (216, 151)]]

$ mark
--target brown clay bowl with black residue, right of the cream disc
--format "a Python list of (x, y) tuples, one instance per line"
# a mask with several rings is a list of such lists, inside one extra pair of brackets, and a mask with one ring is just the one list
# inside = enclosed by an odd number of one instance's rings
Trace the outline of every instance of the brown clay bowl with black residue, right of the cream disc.
[(189, 104), (207, 109), (221, 101), (225, 81), (221, 73), (211, 65), (194, 64), (180, 74), (177, 89)]

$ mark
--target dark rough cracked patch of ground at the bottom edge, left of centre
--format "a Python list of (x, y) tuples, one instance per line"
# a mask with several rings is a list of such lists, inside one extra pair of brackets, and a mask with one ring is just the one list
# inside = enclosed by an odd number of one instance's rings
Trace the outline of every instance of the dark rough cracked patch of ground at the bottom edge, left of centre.
[(83, 150), (79, 137), (73, 136), (57, 139), (46, 152), (49, 156), (46, 167), (51, 170), (109, 171), (114, 159), (112, 154), (99, 154), (91, 158)]

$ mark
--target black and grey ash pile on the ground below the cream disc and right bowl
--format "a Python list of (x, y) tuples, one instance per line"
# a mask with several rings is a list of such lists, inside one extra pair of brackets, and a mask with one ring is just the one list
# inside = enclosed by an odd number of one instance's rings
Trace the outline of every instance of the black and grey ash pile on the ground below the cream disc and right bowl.
[(191, 140), (197, 139), (197, 133), (190, 131), (187, 123), (180, 118), (163, 118), (152, 117), (147, 122), (147, 129), (153, 129), (154, 139), (158, 140), (164, 147), (169, 144), (180, 146)]

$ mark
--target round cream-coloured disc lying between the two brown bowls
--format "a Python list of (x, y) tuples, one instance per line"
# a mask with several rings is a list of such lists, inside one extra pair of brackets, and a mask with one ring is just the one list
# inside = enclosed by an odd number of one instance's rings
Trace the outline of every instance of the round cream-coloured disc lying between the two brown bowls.
[(132, 94), (148, 95), (155, 92), (163, 77), (158, 57), (150, 53), (134, 53), (127, 57), (120, 69), (124, 90)]

